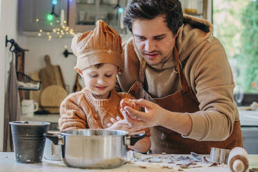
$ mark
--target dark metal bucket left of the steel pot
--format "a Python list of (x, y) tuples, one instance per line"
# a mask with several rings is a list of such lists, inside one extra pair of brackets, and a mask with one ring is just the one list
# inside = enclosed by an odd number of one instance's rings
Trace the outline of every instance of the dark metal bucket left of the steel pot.
[(42, 162), (45, 138), (50, 123), (35, 121), (12, 121), (12, 140), (17, 162)]

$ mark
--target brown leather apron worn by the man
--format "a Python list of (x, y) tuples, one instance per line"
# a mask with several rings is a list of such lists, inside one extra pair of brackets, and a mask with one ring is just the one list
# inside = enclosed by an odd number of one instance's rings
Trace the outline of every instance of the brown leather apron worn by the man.
[[(135, 98), (144, 98), (148, 101), (157, 103), (166, 110), (173, 112), (197, 112), (199, 111), (199, 102), (195, 94), (189, 88), (187, 80), (182, 73), (182, 65), (178, 59), (178, 50), (173, 51), (175, 57), (178, 76), (180, 77), (181, 89), (174, 94), (165, 96), (164, 98), (152, 98), (148, 92), (144, 90), (144, 77), (146, 61), (141, 59), (139, 69), (139, 80), (132, 85), (129, 94)], [(235, 146), (243, 146), (240, 122), (234, 122), (234, 129), (230, 137), (225, 141), (196, 141), (194, 139), (183, 138), (178, 132), (169, 130), (162, 126), (150, 128), (150, 140), (153, 153), (180, 153), (188, 154), (190, 152), (208, 154), (212, 147), (232, 149)], [(218, 133), (219, 134), (219, 133)]]

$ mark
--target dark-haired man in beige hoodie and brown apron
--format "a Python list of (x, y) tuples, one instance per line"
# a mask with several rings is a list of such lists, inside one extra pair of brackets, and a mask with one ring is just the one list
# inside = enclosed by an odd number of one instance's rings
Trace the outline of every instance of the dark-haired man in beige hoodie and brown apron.
[(132, 128), (153, 127), (153, 153), (243, 146), (232, 71), (212, 24), (182, 15), (178, 0), (131, 0), (123, 16), (132, 37), (118, 83), (145, 112), (121, 111)]

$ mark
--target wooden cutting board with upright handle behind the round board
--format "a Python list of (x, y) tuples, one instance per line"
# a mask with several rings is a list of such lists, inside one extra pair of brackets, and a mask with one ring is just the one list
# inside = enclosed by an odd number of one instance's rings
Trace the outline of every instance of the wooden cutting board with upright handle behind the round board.
[(46, 67), (40, 70), (40, 80), (42, 89), (50, 85), (60, 85), (65, 89), (65, 81), (62, 77), (62, 71), (59, 65), (52, 65), (49, 55), (45, 55)]

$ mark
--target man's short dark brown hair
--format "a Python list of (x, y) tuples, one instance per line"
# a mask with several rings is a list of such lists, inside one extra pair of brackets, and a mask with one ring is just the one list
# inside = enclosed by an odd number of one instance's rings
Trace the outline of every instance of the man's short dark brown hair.
[(123, 14), (123, 25), (132, 32), (134, 19), (154, 19), (165, 16), (165, 22), (174, 35), (182, 26), (182, 6), (178, 0), (130, 0)]

